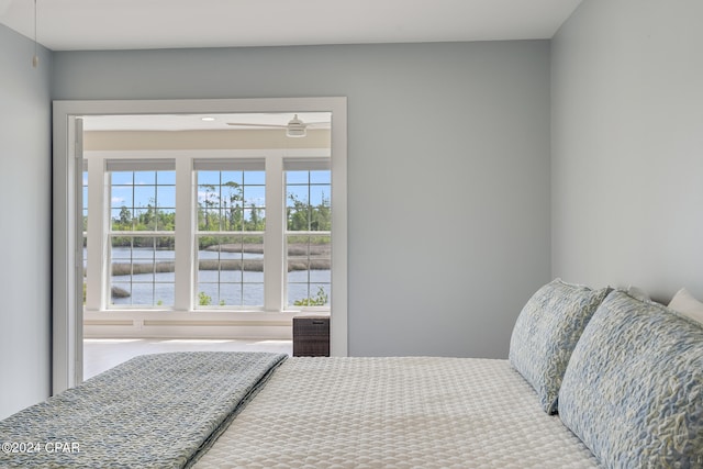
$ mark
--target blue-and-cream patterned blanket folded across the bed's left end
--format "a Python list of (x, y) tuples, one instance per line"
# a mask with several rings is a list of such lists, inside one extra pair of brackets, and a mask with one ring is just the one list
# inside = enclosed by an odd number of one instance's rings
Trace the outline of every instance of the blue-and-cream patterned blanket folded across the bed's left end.
[(192, 465), (286, 355), (133, 358), (0, 422), (2, 468)]

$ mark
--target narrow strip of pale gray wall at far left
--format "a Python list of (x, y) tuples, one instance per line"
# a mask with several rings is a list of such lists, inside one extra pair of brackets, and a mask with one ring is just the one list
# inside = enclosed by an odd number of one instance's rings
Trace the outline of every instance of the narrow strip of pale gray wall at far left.
[(0, 24), (0, 418), (51, 387), (51, 54)]

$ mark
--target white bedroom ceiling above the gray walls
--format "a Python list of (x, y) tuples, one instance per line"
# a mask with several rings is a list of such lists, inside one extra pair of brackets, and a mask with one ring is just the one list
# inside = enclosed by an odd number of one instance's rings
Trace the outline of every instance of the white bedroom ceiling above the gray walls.
[[(581, 0), (36, 0), (53, 51), (550, 38)], [(34, 1), (0, 0), (34, 38)]]

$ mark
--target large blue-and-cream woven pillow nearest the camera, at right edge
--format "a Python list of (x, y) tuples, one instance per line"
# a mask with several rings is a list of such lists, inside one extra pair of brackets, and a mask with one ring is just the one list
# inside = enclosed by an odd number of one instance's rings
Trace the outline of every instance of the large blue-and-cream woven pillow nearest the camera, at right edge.
[(703, 467), (703, 326), (611, 293), (571, 355), (559, 416), (605, 467)]

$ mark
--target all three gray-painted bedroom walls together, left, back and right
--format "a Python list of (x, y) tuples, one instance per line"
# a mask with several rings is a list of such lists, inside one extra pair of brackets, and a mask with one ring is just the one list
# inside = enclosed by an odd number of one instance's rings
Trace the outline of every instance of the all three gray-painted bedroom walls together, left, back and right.
[(54, 70), (41, 49), (35, 70), (0, 25), (0, 194), (23, 227), (0, 231), (0, 417), (49, 391), (52, 98), (348, 97), (350, 353), (504, 357), (553, 275), (703, 297), (700, 18), (700, 0), (587, 0), (551, 87), (549, 42), (55, 53)]

